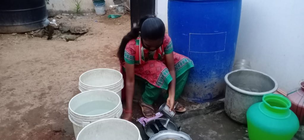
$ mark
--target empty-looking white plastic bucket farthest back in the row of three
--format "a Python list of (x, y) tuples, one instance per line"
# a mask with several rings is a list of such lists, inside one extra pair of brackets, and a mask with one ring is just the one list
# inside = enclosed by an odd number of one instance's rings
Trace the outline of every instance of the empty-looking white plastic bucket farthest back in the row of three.
[(123, 75), (114, 69), (98, 68), (87, 71), (79, 77), (81, 92), (93, 89), (106, 89), (115, 92), (121, 98)]

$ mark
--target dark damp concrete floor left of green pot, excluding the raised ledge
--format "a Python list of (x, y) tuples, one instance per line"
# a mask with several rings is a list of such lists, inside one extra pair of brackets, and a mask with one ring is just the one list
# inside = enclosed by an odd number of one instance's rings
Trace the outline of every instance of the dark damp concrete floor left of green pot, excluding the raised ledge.
[[(249, 140), (247, 127), (233, 122), (223, 110), (174, 121), (192, 140)], [(138, 124), (143, 140), (149, 138)]]

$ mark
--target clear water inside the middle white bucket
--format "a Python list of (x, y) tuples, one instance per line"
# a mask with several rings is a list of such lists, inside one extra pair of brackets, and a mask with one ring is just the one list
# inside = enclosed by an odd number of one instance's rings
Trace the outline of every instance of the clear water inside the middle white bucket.
[(92, 101), (80, 105), (74, 112), (81, 115), (100, 115), (111, 111), (116, 104), (109, 101)]

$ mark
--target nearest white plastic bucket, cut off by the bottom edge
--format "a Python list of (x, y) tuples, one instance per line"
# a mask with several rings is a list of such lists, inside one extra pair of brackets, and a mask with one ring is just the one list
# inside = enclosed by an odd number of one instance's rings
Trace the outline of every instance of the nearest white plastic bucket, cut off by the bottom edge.
[(109, 118), (83, 128), (76, 140), (142, 140), (138, 128), (131, 122)]

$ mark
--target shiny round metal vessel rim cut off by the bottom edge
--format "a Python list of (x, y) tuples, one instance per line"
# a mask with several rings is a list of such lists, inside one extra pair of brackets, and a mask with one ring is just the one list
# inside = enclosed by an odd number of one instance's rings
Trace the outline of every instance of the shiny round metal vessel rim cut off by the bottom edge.
[(189, 135), (180, 131), (160, 131), (150, 137), (149, 140), (192, 140)]

